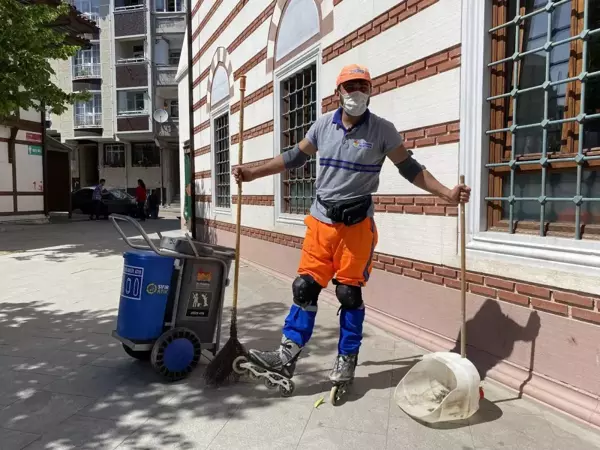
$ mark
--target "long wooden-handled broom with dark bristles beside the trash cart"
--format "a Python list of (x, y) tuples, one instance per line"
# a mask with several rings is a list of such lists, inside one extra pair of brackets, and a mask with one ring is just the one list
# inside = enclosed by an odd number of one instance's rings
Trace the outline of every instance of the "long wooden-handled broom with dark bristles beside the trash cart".
[[(240, 131), (238, 165), (243, 163), (244, 150), (244, 97), (246, 92), (246, 75), (240, 78)], [(235, 268), (233, 275), (233, 306), (231, 307), (231, 326), (229, 340), (221, 351), (215, 355), (206, 367), (204, 378), (208, 384), (219, 385), (233, 374), (233, 361), (246, 354), (246, 350), (237, 338), (237, 303), (240, 277), (240, 236), (242, 234), (242, 182), (238, 182), (237, 223), (235, 228)]]

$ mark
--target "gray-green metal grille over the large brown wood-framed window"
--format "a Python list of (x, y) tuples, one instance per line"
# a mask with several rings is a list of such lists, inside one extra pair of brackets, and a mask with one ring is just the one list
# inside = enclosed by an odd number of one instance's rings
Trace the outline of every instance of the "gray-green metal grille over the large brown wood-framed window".
[[(590, 0), (584, 1), (584, 10), (583, 10), (583, 31), (581, 33), (570, 36), (567, 39), (552, 40), (552, 14), (556, 10), (557, 7), (571, 3), (571, 0), (560, 0), (560, 1), (552, 1), (549, 0), (544, 7), (538, 8), (532, 12), (527, 14), (520, 14), (521, 5), (523, 0), (515, 0), (515, 13), (512, 20), (493, 27), (489, 30), (489, 33), (492, 34), (498, 30), (508, 29), (509, 27), (514, 27), (514, 42), (515, 42), (515, 51), (511, 56), (506, 58), (502, 58), (498, 61), (492, 61), (488, 64), (489, 68), (493, 68), (495, 66), (504, 64), (504, 63), (513, 63), (513, 73), (512, 73), (512, 90), (510, 92), (505, 92), (500, 95), (495, 95), (492, 97), (488, 97), (487, 101), (492, 102), (494, 100), (499, 99), (508, 99), (512, 102), (512, 125), (509, 127), (492, 129), (486, 131), (486, 134), (493, 135), (497, 133), (510, 133), (511, 139), (511, 152), (510, 152), (510, 160), (507, 162), (498, 162), (498, 163), (489, 163), (486, 164), (486, 168), (492, 169), (496, 167), (508, 167), (510, 169), (510, 185), (509, 185), (509, 195), (505, 196), (495, 196), (495, 197), (485, 197), (487, 202), (507, 202), (509, 208), (508, 214), (508, 222), (509, 222), (509, 233), (515, 232), (515, 204), (517, 202), (527, 202), (527, 201), (536, 201), (539, 202), (540, 205), (540, 226), (539, 226), (539, 234), (541, 236), (545, 236), (545, 218), (546, 218), (546, 204), (548, 202), (573, 202), (575, 204), (575, 239), (581, 239), (581, 207), (584, 203), (587, 202), (600, 202), (600, 198), (597, 197), (583, 197), (581, 195), (581, 186), (582, 186), (582, 172), (584, 165), (588, 161), (600, 160), (600, 155), (586, 155), (584, 154), (584, 124), (592, 121), (600, 119), (600, 113), (597, 114), (586, 114), (585, 109), (585, 95), (586, 95), (586, 84), (597, 77), (600, 77), (600, 70), (595, 72), (588, 71), (588, 43), (589, 41), (596, 35), (600, 34), (600, 29), (590, 30), (589, 29), (589, 13), (590, 13)], [(510, 13), (510, 11), (509, 11)], [(530, 49), (527, 51), (520, 51), (521, 45), (521, 24), (527, 19), (531, 19), (534, 16), (539, 14), (546, 14), (548, 17), (548, 25), (546, 32), (546, 42), (543, 46), (538, 48)], [(580, 73), (577, 76), (567, 77), (565, 79), (560, 79), (556, 81), (551, 80), (550, 74), (550, 66), (551, 66), (551, 52), (552, 49), (556, 48), (559, 45), (567, 44), (575, 40), (583, 41), (583, 52), (582, 52), (582, 68)], [(542, 84), (527, 87), (524, 89), (519, 89), (519, 62), (523, 61), (523, 58), (527, 55), (545, 52), (545, 80)], [(564, 85), (571, 82), (579, 82), (581, 83), (581, 96), (580, 96), (580, 107), (579, 114), (575, 117), (562, 118), (557, 120), (550, 120), (548, 115), (549, 108), (549, 97), (550, 91), (553, 88), (556, 88), (560, 85)], [(544, 93), (544, 111), (543, 111), (543, 120), (537, 123), (523, 124), (520, 125), (517, 123), (517, 106), (519, 96), (532, 91), (542, 90)], [(548, 130), (552, 126), (562, 125), (569, 122), (577, 122), (578, 124), (578, 149), (577, 154), (571, 157), (559, 157), (559, 158), (548, 158)], [(516, 157), (516, 137), (519, 131), (526, 129), (539, 129), (542, 130), (542, 149), (541, 156), (539, 159), (527, 159), (527, 160), (518, 160)], [(573, 197), (549, 197), (546, 193), (546, 179), (548, 175), (548, 166), (550, 163), (562, 163), (562, 162), (574, 162), (577, 167), (577, 181), (576, 181), (576, 194)], [(538, 197), (517, 197), (515, 196), (515, 172), (522, 166), (531, 165), (531, 164), (539, 164), (541, 166), (541, 192)]]

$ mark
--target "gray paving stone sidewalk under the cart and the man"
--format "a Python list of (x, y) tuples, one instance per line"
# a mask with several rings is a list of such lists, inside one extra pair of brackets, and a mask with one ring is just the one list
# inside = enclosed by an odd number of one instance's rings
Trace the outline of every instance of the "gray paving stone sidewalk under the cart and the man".
[[(179, 233), (177, 220), (144, 226)], [(109, 222), (0, 234), (0, 450), (600, 448), (596, 430), (491, 383), (469, 421), (436, 428), (414, 422), (393, 392), (423, 351), (372, 326), (352, 394), (341, 406), (315, 408), (327, 399), (337, 347), (336, 308), (327, 304), (292, 398), (248, 381), (206, 387), (203, 367), (166, 384), (110, 337), (125, 249)], [(240, 302), (244, 344), (276, 345), (289, 283), (244, 264)]]

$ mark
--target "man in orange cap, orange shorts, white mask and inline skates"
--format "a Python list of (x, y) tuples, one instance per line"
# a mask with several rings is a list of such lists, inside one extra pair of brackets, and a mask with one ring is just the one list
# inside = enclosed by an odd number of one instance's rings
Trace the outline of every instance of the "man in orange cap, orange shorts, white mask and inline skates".
[(469, 187), (442, 185), (406, 150), (395, 126), (369, 111), (371, 92), (366, 67), (344, 67), (336, 81), (337, 111), (317, 119), (293, 149), (264, 165), (233, 169), (236, 181), (250, 182), (300, 168), (319, 152), (317, 198), (304, 221), (306, 236), (292, 284), (294, 303), (285, 319), (281, 345), (275, 351), (248, 354), (250, 362), (288, 379), (311, 338), (319, 293), (330, 281), (340, 302), (338, 356), (330, 379), (344, 383), (354, 378), (365, 318), (362, 288), (369, 280), (377, 245), (372, 194), (379, 187), (386, 157), (401, 176), (424, 191), (452, 204), (469, 201)]

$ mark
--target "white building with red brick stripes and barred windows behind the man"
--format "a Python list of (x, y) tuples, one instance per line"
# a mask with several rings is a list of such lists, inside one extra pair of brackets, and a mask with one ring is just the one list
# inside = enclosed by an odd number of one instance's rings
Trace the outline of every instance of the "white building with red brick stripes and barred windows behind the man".
[[(234, 245), (241, 207), (242, 255), (295, 276), (319, 157), (245, 184), (237, 204), (240, 76), (244, 163), (260, 165), (338, 108), (344, 65), (366, 65), (370, 109), (442, 183), (464, 174), (473, 188), (469, 358), (482, 376), (600, 425), (598, 2), (199, 0), (193, 13), (198, 236)], [(374, 202), (368, 320), (456, 349), (457, 207), (390, 162)]]

